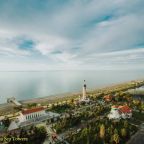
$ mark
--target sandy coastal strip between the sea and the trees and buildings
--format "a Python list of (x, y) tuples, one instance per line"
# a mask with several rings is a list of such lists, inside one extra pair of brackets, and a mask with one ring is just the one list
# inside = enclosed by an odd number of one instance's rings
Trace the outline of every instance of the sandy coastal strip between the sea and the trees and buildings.
[[(95, 88), (95, 89), (88, 89), (87, 93), (88, 94), (94, 94), (94, 95), (98, 95), (101, 92), (111, 92), (115, 89), (118, 88), (126, 88), (129, 84), (132, 83), (137, 83), (137, 82), (141, 82), (142, 85), (144, 85), (144, 80), (131, 80), (131, 81), (125, 81), (122, 83), (117, 83), (117, 84), (111, 84), (108, 86), (104, 86), (104, 87), (99, 87), (99, 88)], [(23, 105), (26, 106), (27, 104), (32, 104), (32, 103), (36, 103), (36, 104), (42, 104), (42, 105), (48, 105), (48, 104), (53, 104), (53, 103), (57, 103), (57, 102), (62, 102), (62, 101), (67, 101), (70, 99), (75, 99), (75, 98), (79, 98), (79, 95), (81, 95), (82, 92), (69, 92), (69, 93), (62, 93), (62, 94), (56, 94), (56, 95), (50, 95), (50, 96), (45, 96), (45, 97), (39, 97), (39, 98), (32, 98), (32, 99), (26, 99), (26, 100), (20, 100), (19, 102)], [(12, 111), (15, 111), (15, 107), (16, 105), (14, 105), (13, 103), (2, 103), (0, 104), (0, 115), (2, 115), (3, 113), (11, 113)]]

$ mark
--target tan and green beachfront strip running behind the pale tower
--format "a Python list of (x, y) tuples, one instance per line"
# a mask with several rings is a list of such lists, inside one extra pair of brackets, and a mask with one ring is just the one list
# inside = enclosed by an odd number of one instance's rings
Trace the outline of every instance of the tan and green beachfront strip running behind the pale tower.
[[(144, 85), (144, 80), (136, 80), (136, 81), (130, 81), (130, 82), (125, 82), (121, 84), (116, 84), (112, 86), (107, 86), (104, 88), (99, 88), (95, 90), (88, 91), (88, 94), (94, 94), (94, 95), (99, 95), (100, 93), (111, 93), (111, 92), (116, 92), (116, 91), (126, 91), (128, 89), (133, 89), (135, 87), (141, 87)], [(23, 100), (20, 101), (22, 106), (26, 106), (28, 104), (32, 103), (37, 103), (37, 104), (42, 104), (42, 105), (49, 105), (49, 104), (55, 104), (58, 102), (65, 102), (71, 99), (78, 98), (80, 95), (80, 92), (77, 93), (65, 93), (65, 94), (60, 94), (60, 95), (55, 95), (55, 96), (48, 96), (48, 97), (43, 97), (43, 98), (35, 98), (35, 99), (30, 99), (30, 100)], [(15, 105), (12, 103), (5, 103), (5, 104), (0, 104), (0, 116), (4, 116), (7, 114), (12, 114), (16, 112), (17, 110), (15, 109)]]

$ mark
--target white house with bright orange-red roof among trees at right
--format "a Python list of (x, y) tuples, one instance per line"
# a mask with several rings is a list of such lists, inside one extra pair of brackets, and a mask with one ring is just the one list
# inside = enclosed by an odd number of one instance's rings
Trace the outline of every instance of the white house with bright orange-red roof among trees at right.
[(132, 110), (127, 105), (112, 106), (108, 114), (109, 119), (126, 119), (132, 117)]

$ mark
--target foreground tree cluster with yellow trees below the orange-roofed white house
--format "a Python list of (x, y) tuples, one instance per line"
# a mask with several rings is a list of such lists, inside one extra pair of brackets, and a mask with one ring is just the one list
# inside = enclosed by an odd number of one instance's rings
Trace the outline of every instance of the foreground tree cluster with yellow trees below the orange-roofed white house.
[(136, 131), (137, 128), (126, 120), (103, 119), (88, 123), (78, 133), (70, 133), (67, 140), (73, 144), (124, 144)]

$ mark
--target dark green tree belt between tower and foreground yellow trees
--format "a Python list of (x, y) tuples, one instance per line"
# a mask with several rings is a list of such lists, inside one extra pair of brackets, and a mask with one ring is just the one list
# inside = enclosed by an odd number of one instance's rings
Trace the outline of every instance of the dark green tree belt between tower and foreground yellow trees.
[(85, 123), (86, 121), (99, 119), (104, 117), (103, 114), (107, 111), (107, 107), (97, 105), (89, 106), (86, 109), (84, 106), (77, 108), (76, 112), (69, 111), (67, 115), (58, 121), (53, 128), (57, 133), (61, 133), (69, 128), (76, 127)]

